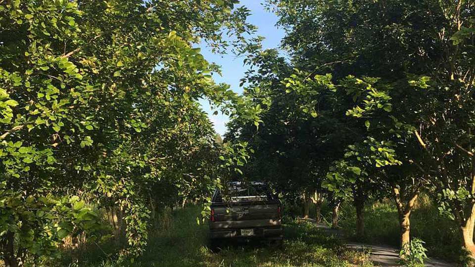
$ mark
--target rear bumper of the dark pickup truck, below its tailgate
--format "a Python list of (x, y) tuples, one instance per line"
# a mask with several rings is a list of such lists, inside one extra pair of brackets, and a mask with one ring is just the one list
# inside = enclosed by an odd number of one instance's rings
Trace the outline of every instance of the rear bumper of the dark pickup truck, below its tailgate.
[(272, 228), (253, 228), (254, 235), (252, 236), (241, 236), (240, 228), (238, 229), (210, 229), (209, 237), (211, 239), (217, 238), (242, 238), (242, 239), (253, 239), (253, 238), (265, 238), (265, 239), (282, 239), (284, 237), (284, 231), (282, 227), (272, 227)]

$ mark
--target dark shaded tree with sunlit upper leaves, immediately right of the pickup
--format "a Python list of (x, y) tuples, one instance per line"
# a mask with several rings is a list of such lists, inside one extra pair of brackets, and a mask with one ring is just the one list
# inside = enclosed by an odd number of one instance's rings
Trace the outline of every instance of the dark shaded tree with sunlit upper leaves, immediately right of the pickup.
[(341, 144), (355, 136), (333, 117), (334, 109), (341, 110), (333, 98), (348, 97), (327, 87), (331, 76), (305, 79), (275, 50), (254, 51), (246, 60), (251, 69), (243, 79), (250, 84), (244, 96), (262, 109), (261, 122), (257, 128), (232, 120), (227, 139), (247, 141), (255, 153), (246, 171), (272, 182), (290, 200), (302, 200), (308, 217), (311, 196), (323, 191), (325, 166), (342, 156)]

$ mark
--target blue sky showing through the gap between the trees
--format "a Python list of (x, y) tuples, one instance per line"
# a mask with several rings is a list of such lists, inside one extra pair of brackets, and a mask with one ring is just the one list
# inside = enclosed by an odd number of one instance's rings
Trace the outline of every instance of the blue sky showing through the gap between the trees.
[[(284, 37), (284, 30), (277, 28), (275, 25), (277, 23), (278, 17), (267, 10), (264, 9), (263, 3), (264, 0), (241, 0), (240, 5), (245, 5), (249, 10), (251, 10), (251, 15), (247, 18), (247, 21), (258, 27), (257, 36), (265, 37), (263, 41), (263, 48), (277, 48), (282, 38)], [(213, 54), (208, 47), (205, 45), (200, 45), (201, 54), (209, 62), (214, 62), (221, 66), (222, 76), (213, 75), (213, 78), (216, 83), (226, 83), (231, 85), (231, 89), (235, 92), (241, 94), (243, 88), (239, 87), (239, 80), (244, 77), (244, 72), (247, 70), (243, 66), (242, 60), (244, 58), (236, 58), (232, 53), (222, 55), (222, 54)], [(226, 123), (229, 121), (229, 118), (226, 115), (219, 112), (218, 115), (213, 115), (213, 110), (211, 110), (207, 100), (201, 100), (200, 104), (208, 117), (214, 125), (214, 129), (220, 135), (226, 133)]]

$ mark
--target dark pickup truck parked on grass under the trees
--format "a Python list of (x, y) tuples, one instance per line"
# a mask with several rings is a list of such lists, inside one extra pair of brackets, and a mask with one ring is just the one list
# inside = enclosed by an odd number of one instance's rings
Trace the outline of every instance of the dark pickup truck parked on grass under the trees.
[(211, 199), (210, 249), (217, 251), (226, 240), (249, 239), (282, 247), (281, 212), (281, 202), (264, 182), (236, 181), (223, 192), (216, 189)]

